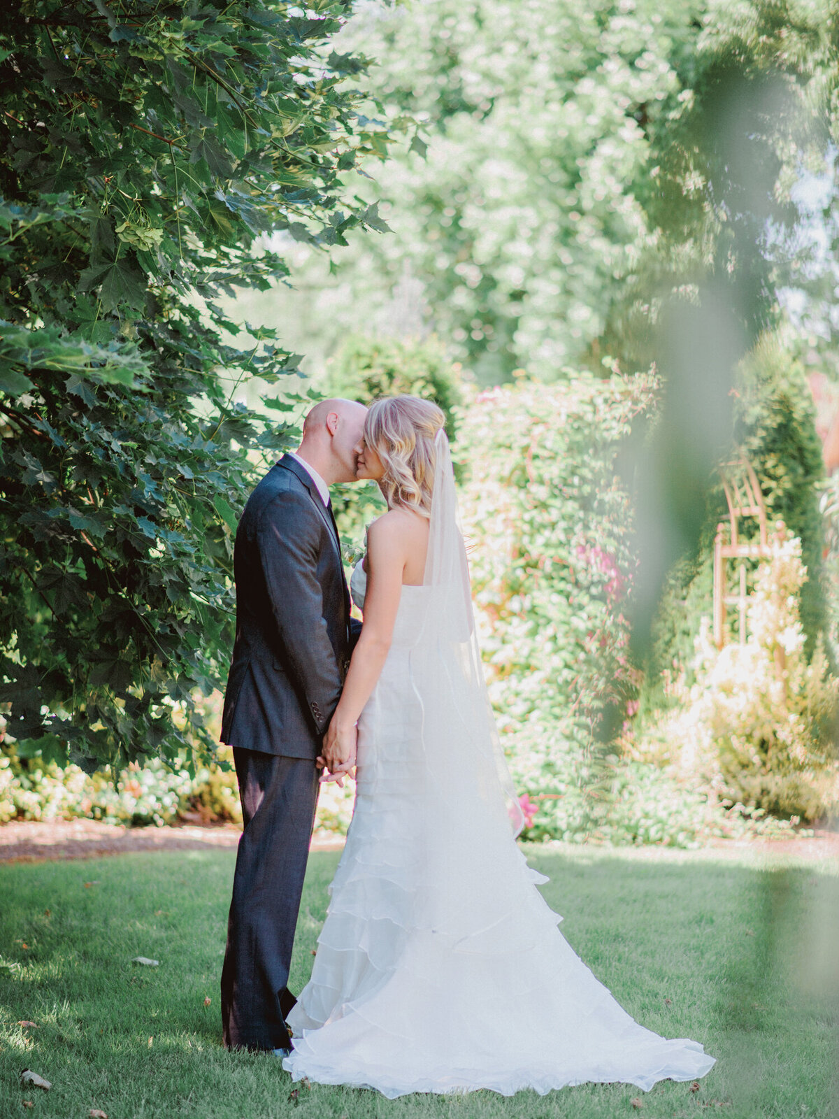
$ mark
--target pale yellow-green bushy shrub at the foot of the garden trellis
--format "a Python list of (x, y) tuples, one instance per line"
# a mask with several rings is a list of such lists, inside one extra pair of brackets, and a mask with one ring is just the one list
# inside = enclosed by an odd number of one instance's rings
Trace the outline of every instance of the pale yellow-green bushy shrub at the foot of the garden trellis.
[(805, 577), (800, 539), (775, 539), (748, 598), (746, 642), (718, 650), (703, 619), (689, 666), (695, 681), (687, 686), (681, 675), (670, 683), (678, 707), (650, 741), (666, 740), (679, 771), (700, 777), (720, 798), (814, 820), (839, 807), (839, 681), (821, 642), (810, 664), (804, 655)]

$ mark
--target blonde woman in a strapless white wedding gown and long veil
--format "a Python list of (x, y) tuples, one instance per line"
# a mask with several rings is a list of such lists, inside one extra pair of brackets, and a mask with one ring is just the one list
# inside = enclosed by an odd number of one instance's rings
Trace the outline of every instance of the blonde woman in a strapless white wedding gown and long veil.
[(356, 805), (283, 1066), (392, 1099), (703, 1076), (700, 1044), (639, 1025), (575, 955), (515, 843), (443, 420), (381, 399), (358, 448), (388, 511), (352, 573), (364, 629), (323, 751), (332, 777), (357, 765)]

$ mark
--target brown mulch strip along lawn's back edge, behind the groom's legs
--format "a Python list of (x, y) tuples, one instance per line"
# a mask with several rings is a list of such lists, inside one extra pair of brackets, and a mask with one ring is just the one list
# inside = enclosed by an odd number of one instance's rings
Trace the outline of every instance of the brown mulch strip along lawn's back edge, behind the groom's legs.
[[(0, 862), (35, 863), (43, 859), (98, 858), (135, 850), (202, 850), (235, 847), (242, 828), (210, 824), (131, 828), (97, 820), (12, 820), (0, 824)], [(343, 846), (340, 836), (314, 836), (312, 850)]]

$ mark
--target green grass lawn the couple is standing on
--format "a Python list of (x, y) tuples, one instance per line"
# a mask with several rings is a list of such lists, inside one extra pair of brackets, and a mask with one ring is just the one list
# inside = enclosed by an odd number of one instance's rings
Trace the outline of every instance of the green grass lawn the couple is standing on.
[[(207, 850), (0, 866), (0, 956), (20, 963), (0, 968), (0, 1117), (87, 1119), (101, 1109), (110, 1119), (837, 1119), (835, 865), (529, 854), (552, 877), (544, 892), (565, 916), (565, 935), (626, 1009), (718, 1057), (699, 1091), (583, 1085), (511, 1100), (478, 1092), (388, 1101), (315, 1084), (293, 1093), (274, 1057), (220, 1047), (234, 856)], [(337, 861), (310, 859), (293, 989), (309, 974)], [(134, 956), (160, 967), (132, 965)], [(26, 1068), (51, 1091), (22, 1090)], [(639, 1098), (640, 1108), (631, 1102)], [(34, 1108), (23, 1110), (23, 1100)]]

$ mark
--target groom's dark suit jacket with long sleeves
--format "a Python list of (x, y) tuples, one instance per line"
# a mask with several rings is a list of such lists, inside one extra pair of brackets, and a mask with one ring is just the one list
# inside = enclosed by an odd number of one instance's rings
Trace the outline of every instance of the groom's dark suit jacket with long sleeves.
[(314, 759), (355, 633), (331, 509), (290, 455), (251, 495), (236, 532), (234, 567), (236, 641), (221, 741)]

